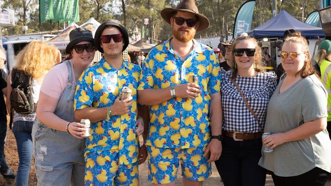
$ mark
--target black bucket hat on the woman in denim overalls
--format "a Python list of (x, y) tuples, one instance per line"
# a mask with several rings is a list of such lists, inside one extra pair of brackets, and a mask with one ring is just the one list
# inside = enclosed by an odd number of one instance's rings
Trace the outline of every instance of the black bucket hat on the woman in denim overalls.
[(94, 43), (92, 32), (85, 28), (75, 28), (69, 33), (70, 42), (66, 47), (66, 53), (71, 54), (71, 50), (75, 44), (81, 41)]

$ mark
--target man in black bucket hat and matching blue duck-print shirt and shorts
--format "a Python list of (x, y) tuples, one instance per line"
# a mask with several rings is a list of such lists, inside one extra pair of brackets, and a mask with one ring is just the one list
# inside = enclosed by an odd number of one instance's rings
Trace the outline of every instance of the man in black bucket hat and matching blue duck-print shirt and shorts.
[[(138, 185), (136, 136), (144, 131), (136, 103), (141, 68), (123, 60), (129, 38), (118, 20), (103, 22), (94, 43), (103, 58), (82, 74), (74, 99), (76, 119), (92, 122), (86, 140), (85, 185)], [(126, 90), (131, 96), (120, 99), (119, 93)]]

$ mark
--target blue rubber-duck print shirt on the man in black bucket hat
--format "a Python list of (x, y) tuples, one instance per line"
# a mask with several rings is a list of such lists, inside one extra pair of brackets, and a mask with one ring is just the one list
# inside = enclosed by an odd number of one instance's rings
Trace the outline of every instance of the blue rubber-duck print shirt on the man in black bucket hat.
[(140, 74), (141, 68), (137, 65), (124, 61), (117, 70), (109, 66), (104, 58), (82, 73), (77, 82), (74, 110), (111, 106), (124, 86), (131, 88), (133, 98), (127, 114), (111, 116), (109, 121), (91, 122), (92, 135), (86, 140), (86, 153), (109, 150), (109, 153), (119, 153), (120, 164), (137, 161), (136, 88), (139, 86)]

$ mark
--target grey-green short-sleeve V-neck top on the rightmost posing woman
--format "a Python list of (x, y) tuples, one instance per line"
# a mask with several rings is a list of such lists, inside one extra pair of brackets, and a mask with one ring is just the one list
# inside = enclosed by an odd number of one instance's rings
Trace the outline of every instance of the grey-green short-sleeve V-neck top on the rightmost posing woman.
[[(284, 79), (270, 98), (264, 132), (286, 132), (327, 117), (327, 93), (315, 75), (300, 79), (280, 93)], [(278, 176), (297, 176), (315, 167), (331, 172), (330, 157), (331, 141), (325, 129), (310, 138), (279, 145), (272, 152), (262, 152), (259, 165)]]

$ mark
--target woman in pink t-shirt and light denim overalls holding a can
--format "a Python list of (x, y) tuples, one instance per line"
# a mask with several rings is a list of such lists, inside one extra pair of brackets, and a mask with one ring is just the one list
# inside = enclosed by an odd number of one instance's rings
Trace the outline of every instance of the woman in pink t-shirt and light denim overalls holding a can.
[(38, 185), (84, 185), (85, 126), (74, 117), (76, 81), (91, 65), (95, 46), (92, 32), (75, 28), (66, 53), (72, 57), (52, 68), (40, 88), (34, 122), (33, 154)]

